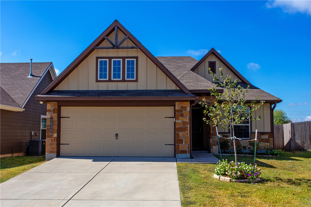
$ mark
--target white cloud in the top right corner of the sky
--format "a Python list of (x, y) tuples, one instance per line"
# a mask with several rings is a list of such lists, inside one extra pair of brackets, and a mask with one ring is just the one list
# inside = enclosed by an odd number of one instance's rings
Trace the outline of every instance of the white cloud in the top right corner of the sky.
[(283, 12), (289, 14), (306, 13), (311, 15), (311, 1), (269, 1), (266, 3), (267, 8), (280, 7)]

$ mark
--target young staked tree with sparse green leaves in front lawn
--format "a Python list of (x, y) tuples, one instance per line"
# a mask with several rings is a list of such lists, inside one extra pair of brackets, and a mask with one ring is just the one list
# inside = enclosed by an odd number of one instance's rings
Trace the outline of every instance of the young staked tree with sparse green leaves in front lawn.
[[(256, 99), (258, 99), (258, 97), (254, 97), (255, 100), (250, 103), (246, 101), (246, 93), (250, 86), (243, 88), (238, 84), (237, 80), (232, 82), (231, 76), (228, 75), (224, 78), (222, 68), (219, 69), (221, 81), (212, 73), (210, 68), (208, 70), (213, 80), (218, 83), (209, 88), (211, 96), (215, 96), (217, 102), (215, 102), (214, 105), (211, 105), (211, 103), (207, 102), (205, 99), (201, 102), (202, 106), (205, 107), (204, 114), (210, 117), (210, 119), (203, 119), (207, 124), (214, 124), (214, 126), (220, 124), (223, 128), (229, 126), (229, 128), (234, 129), (234, 125), (236, 124), (242, 124), (249, 119), (260, 119), (260, 116), (255, 118), (252, 118), (252, 116), (253, 112), (260, 108), (264, 101), (257, 102)], [(219, 88), (224, 89), (224, 92), (218, 92), (217, 89)], [(234, 137), (234, 130), (232, 130), (232, 137)], [(233, 144), (235, 163), (237, 164), (235, 138), (233, 139)]]

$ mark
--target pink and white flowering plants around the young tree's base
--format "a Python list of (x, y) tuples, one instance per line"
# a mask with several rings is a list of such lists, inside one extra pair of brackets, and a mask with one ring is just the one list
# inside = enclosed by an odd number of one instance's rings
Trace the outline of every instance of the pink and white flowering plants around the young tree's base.
[[(244, 162), (239, 162), (235, 164), (234, 161), (228, 162), (228, 160), (223, 159), (222, 162), (219, 160), (219, 163), (216, 164), (215, 174), (226, 176), (236, 179), (253, 179), (253, 165), (245, 164)], [(261, 169), (257, 168), (255, 164), (255, 175), (254, 178), (258, 178), (261, 174)]]

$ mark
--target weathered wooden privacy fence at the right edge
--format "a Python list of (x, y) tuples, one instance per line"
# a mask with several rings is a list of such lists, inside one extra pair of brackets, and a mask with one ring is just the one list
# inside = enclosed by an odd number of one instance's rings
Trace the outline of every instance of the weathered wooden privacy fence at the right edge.
[(288, 151), (311, 149), (311, 121), (274, 125), (274, 148)]

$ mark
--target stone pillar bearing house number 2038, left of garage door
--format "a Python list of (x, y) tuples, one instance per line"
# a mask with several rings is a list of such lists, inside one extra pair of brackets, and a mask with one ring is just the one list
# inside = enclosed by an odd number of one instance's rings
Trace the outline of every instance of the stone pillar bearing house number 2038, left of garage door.
[[(53, 117), (53, 133), (50, 133), (50, 117)], [(45, 160), (52, 160), (56, 157), (57, 143), (57, 103), (47, 102), (46, 113), (46, 145)]]

